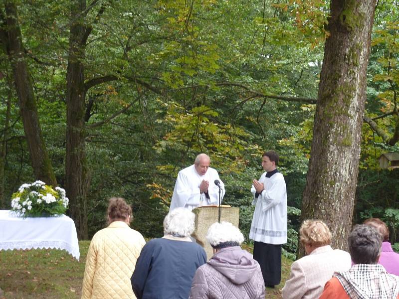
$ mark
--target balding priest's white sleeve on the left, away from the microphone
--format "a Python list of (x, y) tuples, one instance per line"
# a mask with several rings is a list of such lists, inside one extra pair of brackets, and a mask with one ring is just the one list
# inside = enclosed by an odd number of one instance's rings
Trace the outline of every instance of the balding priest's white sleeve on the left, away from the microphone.
[(179, 207), (186, 207), (187, 204), (200, 204), (200, 187), (193, 188), (189, 178), (183, 171), (179, 171), (173, 190), (170, 211)]

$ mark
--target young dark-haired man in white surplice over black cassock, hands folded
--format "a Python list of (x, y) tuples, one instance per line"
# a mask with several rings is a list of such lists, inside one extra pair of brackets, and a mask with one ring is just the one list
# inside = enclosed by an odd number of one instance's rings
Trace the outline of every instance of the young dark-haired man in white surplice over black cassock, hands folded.
[(281, 248), (287, 243), (287, 190), (284, 176), (278, 172), (278, 153), (263, 153), (266, 170), (251, 187), (255, 205), (249, 238), (254, 241), (253, 258), (259, 263), (266, 287), (281, 281)]

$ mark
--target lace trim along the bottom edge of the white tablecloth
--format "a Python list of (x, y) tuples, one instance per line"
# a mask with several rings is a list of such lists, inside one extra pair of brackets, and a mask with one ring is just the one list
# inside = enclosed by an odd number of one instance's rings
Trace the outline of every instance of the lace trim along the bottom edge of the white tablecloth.
[(61, 249), (66, 250), (74, 258), (79, 261), (79, 248), (71, 246), (65, 241), (2, 241), (0, 250), (13, 250), (13, 249)]

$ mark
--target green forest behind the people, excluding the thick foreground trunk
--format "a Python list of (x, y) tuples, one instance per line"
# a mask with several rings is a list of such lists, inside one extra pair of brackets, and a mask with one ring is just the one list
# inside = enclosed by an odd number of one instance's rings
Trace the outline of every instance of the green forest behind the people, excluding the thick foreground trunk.
[[(104, 227), (111, 196), (132, 205), (133, 228), (159, 237), (178, 171), (205, 152), (247, 237), (251, 181), (275, 149), (294, 256), (329, 1), (3, 3), (1, 209), (42, 179), (66, 188), (79, 239)], [(376, 4), (352, 222), (382, 218), (398, 250), (399, 170), (378, 158), (399, 151), (399, 3)]]

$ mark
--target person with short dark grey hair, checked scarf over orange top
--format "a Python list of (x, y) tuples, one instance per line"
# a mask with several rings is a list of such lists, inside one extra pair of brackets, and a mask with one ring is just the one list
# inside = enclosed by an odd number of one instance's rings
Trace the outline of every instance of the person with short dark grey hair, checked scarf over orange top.
[(382, 236), (369, 225), (356, 225), (348, 237), (354, 265), (348, 272), (334, 274), (320, 299), (399, 299), (399, 277), (378, 264)]

